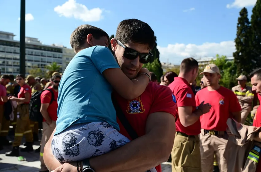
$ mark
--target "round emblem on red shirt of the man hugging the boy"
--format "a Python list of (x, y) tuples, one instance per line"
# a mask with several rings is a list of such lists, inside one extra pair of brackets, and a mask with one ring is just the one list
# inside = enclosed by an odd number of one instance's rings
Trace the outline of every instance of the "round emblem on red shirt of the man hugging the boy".
[(127, 113), (137, 114), (137, 113), (143, 113), (144, 111), (145, 109), (143, 108), (140, 97), (128, 101), (128, 106), (126, 110)]

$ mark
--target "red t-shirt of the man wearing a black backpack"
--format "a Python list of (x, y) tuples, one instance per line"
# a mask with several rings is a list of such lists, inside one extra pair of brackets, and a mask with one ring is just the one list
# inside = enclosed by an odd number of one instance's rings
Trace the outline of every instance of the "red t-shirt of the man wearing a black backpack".
[[(57, 103), (58, 91), (55, 91), (52, 87), (49, 87), (48, 89), (51, 89), (53, 91), (54, 100), (51, 104), (49, 104), (49, 106), (47, 108), (47, 112), (49, 114), (49, 117), (53, 121), (56, 121), (57, 120), (57, 109), (58, 109), (58, 103)], [(41, 94), (41, 104), (50, 103), (51, 99), (52, 99), (52, 93), (50, 91), (46, 90), (46, 91), (42, 92), (42, 94)], [(43, 119), (43, 122), (45, 122), (45, 119)]]

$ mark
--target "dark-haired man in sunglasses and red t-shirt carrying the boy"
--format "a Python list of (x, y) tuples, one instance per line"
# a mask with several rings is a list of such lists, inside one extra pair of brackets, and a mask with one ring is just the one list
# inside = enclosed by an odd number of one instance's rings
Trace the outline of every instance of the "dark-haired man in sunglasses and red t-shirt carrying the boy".
[[(134, 79), (142, 65), (149, 62), (152, 56), (149, 50), (154, 44), (154, 31), (147, 23), (137, 19), (120, 22), (115, 38), (111, 39), (115, 58), (130, 79)], [(114, 97), (139, 138), (114, 151), (85, 160), (84, 163), (92, 169), (88, 171), (146, 171), (156, 166), (156, 170), (161, 172), (159, 164), (168, 160), (175, 137), (177, 113), (171, 90), (150, 82), (136, 99), (125, 100), (118, 94), (114, 94)], [(117, 123), (119, 132), (131, 140), (118, 119)], [(45, 146), (45, 165), (49, 170), (56, 168), (56, 172), (77, 172), (76, 162), (61, 165), (54, 158), (51, 152), (52, 137)], [(82, 164), (80, 162), (80, 166)]]

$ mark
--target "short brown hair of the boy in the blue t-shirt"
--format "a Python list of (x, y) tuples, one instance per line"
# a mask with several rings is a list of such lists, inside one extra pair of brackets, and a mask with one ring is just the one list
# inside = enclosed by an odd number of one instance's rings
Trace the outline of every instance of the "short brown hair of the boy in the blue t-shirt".
[(80, 25), (72, 32), (70, 38), (70, 44), (75, 52), (83, 48), (88, 34), (92, 34), (95, 39), (100, 39), (100, 37), (107, 37), (108, 43), (110, 43), (109, 35), (103, 29), (92, 25)]

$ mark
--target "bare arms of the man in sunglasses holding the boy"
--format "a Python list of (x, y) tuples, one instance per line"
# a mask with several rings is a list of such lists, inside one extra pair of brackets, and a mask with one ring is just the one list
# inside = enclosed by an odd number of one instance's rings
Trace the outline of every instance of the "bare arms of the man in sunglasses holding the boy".
[[(173, 147), (175, 131), (173, 115), (166, 112), (152, 113), (147, 119), (146, 135), (115, 151), (91, 158), (90, 165), (99, 172), (127, 170), (144, 172), (167, 161)], [(52, 137), (53, 135), (46, 143), (44, 150), (45, 165), (49, 170), (54, 170), (61, 164), (52, 154)], [(70, 168), (72, 165), (64, 163), (63, 167)], [(76, 168), (75, 171), (77, 171)]]

